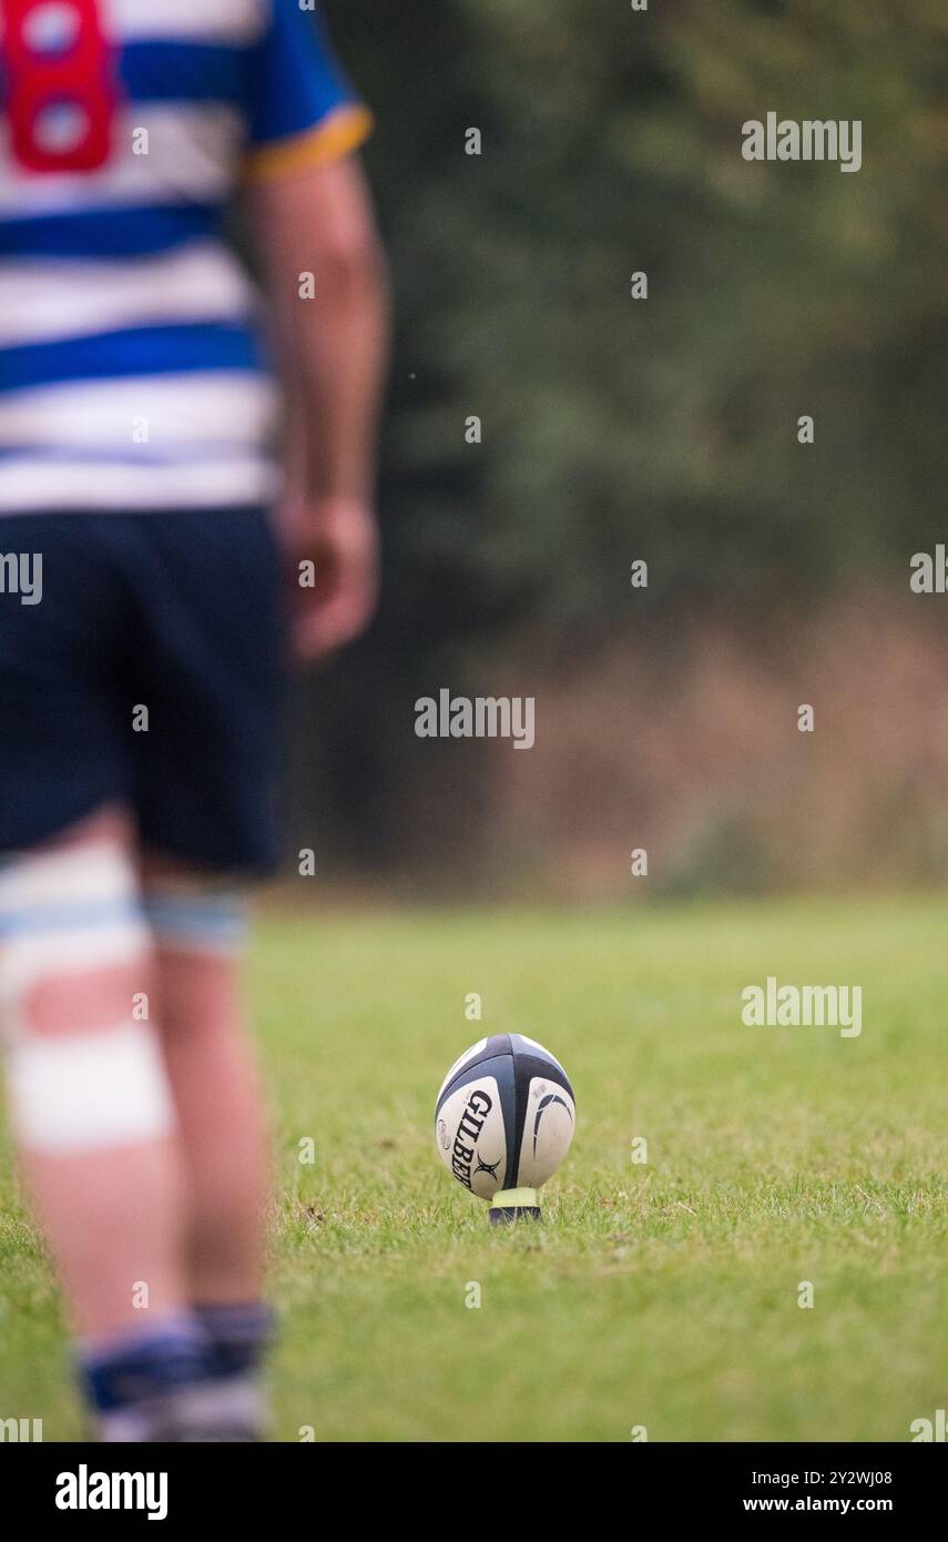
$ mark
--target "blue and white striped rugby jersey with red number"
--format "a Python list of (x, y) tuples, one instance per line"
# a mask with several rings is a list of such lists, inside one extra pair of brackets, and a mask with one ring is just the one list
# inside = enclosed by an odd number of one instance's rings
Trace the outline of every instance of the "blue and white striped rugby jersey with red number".
[(311, 0), (0, 0), (0, 513), (259, 504), (274, 392), (222, 236), (368, 113)]

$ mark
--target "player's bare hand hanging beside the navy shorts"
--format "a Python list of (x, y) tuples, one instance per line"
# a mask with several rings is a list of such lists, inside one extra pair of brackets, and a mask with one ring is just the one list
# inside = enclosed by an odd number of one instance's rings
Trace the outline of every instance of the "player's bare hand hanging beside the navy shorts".
[(373, 617), (379, 591), (376, 518), (358, 500), (324, 498), (294, 510), (287, 537), (293, 652), (325, 658), (351, 643)]

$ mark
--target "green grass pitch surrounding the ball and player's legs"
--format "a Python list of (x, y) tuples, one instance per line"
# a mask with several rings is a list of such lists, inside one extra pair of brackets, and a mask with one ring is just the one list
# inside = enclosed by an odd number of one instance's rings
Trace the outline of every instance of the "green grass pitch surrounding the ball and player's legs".
[[(270, 914), (276, 1437), (908, 1440), (948, 1402), (946, 934), (943, 899)], [(860, 984), (862, 1036), (745, 1027), (768, 975)], [(564, 1061), (578, 1133), (546, 1224), (496, 1232), (432, 1112), (507, 1030)], [(48, 1260), (2, 1172), (0, 1417), (74, 1439)]]

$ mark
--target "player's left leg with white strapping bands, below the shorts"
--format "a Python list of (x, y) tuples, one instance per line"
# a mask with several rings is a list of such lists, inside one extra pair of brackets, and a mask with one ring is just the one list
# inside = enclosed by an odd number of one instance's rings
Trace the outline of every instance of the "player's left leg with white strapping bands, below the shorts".
[[(182, 1161), (154, 1025), (128, 816), (0, 868), (0, 1025), (14, 1138), (105, 1439), (146, 1439), (202, 1374), (182, 1255)], [(146, 1396), (123, 1396), (129, 1374)]]

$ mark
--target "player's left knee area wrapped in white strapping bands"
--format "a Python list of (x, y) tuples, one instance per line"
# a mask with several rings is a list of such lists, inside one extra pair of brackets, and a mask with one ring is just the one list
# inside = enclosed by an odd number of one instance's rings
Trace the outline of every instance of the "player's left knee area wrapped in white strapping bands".
[(0, 868), (0, 1030), (34, 1150), (159, 1138), (173, 1112), (148, 1022), (150, 934), (126, 845), (102, 834)]

